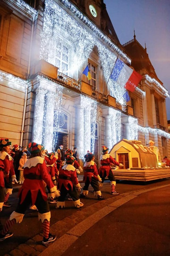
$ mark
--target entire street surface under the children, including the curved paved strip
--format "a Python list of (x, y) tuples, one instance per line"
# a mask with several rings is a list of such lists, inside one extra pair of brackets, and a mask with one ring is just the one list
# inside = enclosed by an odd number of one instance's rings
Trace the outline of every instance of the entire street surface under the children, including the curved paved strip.
[[(120, 194), (112, 196), (110, 184), (105, 181), (103, 201), (94, 198), (89, 187), (88, 198), (81, 199), (81, 209), (74, 209), (71, 201), (66, 201), (65, 209), (50, 204), (50, 232), (57, 235), (57, 240), (45, 246), (41, 244), (37, 211), (28, 210), (23, 222), (13, 226), (14, 236), (0, 243), (0, 255), (170, 255), (169, 188), (170, 179), (146, 185), (120, 181)], [(3, 224), (15, 210), (16, 194), (9, 200), (13, 206), (2, 211)]]

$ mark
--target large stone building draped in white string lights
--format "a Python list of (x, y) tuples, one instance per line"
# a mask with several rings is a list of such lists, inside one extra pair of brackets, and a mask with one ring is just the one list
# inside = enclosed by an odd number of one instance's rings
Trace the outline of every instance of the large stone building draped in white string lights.
[[(128, 102), (110, 78), (117, 58), (142, 75)], [(89, 150), (97, 162), (103, 144), (123, 138), (153, 140), (170, 156), (166, 97), (146, 47), (135, 35), (120, 44), (103, 0), (1, 0), (1, 137), (76, 146), (79, 159)]]

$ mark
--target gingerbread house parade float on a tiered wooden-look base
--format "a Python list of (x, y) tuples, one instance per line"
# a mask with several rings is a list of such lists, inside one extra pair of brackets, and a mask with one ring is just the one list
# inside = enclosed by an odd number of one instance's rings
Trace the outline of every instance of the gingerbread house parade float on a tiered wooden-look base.
[(147, 147), (141, 141), (122, 139), (109, 154), (124, 165), (124, 169), (114, 170), (117, 180), (151, 181), (170, 177), (170, 168), (160, 163), (160, 153), (153, 141)]

